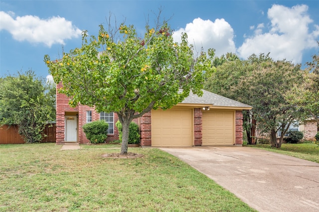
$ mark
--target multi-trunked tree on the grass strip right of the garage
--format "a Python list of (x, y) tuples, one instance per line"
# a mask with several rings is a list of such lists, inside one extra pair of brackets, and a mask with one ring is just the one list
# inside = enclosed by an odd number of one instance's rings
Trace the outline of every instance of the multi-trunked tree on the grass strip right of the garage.
[[(291, 103), (285, 96), (302, 81), (300, 65), (283, 60), (261, 63), (246, 83), (242, 83), (242, 86), (254, 90), (252, 103), (256, 120), (262, 132), (269, 133), (273, 147), (281, 147), (291, 123), (303, 119), (303, 111), (297, 110), (297, 104)], [(281, 137), (277, 140), (279, 131)]]

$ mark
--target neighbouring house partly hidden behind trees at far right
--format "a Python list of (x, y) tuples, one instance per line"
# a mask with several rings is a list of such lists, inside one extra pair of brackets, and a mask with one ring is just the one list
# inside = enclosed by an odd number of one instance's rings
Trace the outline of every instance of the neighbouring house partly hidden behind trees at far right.
[[(288, 131), (301, 131), (304, 133), (304, 140), (316, 141), (315, 136), (318, 132), (318, 124), (317, 121), (313, 119), (305, 120), (302, 124), (299, 122), (294, 122), (289, 126)], [(280, 131), (278, 132), (277, 136), (281, 136)]]

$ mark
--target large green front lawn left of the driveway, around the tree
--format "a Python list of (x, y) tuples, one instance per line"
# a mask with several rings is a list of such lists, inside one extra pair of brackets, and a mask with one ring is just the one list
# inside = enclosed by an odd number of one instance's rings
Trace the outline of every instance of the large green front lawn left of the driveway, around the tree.
[(111, 159), (119, 145), (0, 145), (0, 212), (254, 211), (181, 160), (156, 148)]

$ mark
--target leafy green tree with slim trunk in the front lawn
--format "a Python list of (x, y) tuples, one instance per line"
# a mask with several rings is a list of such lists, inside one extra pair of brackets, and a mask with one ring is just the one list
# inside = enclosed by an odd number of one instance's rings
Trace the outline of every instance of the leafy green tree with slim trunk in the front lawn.
[(115, 112), (123, 126), (121, 154), (128, 152), (129, 124), (153, 108), (168, 109), (188, 96), (201, 95), (202, 73), (210, 62), (198, 57), (181, 34), (176, 43), (166, 21), (157, 18), (152, 28), (138, 35), (133, 25), (100, 25), (97, 36), (82, 33), (82, 46), (63, 58), (44, 62), (69, 104), (95, 106), (98, 112)]

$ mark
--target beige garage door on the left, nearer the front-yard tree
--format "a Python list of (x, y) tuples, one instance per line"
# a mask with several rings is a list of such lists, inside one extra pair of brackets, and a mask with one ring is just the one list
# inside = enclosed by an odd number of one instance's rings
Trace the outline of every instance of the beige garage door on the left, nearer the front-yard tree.
[(191, 146), (192, 110), (152, 110), (152, 146)]

